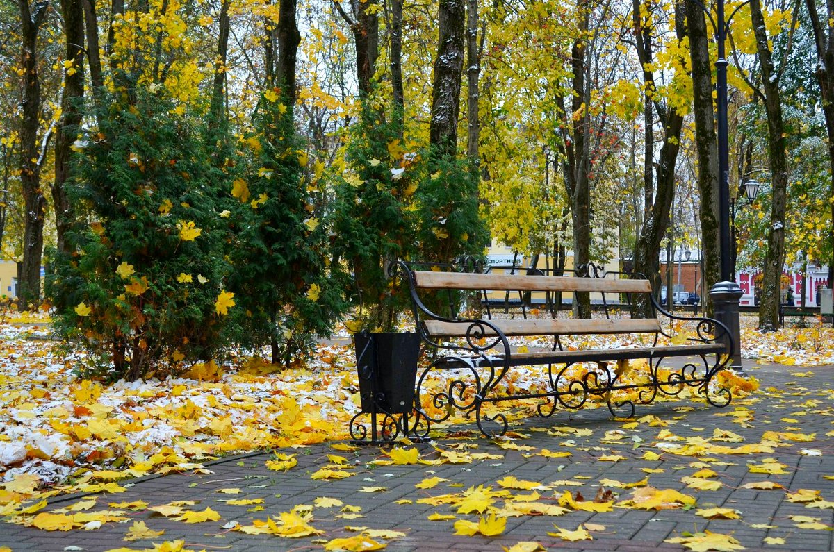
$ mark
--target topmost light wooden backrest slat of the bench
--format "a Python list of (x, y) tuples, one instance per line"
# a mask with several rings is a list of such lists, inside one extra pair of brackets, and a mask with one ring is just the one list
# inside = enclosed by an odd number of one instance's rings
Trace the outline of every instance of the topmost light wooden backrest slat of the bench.
[(588, 291), (606, 294), (651, 293), (649, 280), (431, 272), (428, 270), (415, 270), (413, 274), (418, 288)]

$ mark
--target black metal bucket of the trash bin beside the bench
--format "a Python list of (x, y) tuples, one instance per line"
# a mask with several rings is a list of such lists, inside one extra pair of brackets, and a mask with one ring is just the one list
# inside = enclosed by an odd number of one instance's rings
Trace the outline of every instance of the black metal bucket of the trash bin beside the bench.
[(414, 407), (420, 334), (354, 334), (362, 412), (410, 414)]

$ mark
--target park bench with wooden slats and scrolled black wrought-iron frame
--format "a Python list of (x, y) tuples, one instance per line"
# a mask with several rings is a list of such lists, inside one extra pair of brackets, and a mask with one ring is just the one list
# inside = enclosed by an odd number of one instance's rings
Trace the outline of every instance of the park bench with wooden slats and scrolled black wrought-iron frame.
[[(467, 416), (474, 415), (478, 427), (487, 436), (505, 434), (507, 417), (503, 413), (489, 415), (482, 409), (485, 404), (518, 399), (540, 399), (538, 413), (554, 414), (558, 407), (579, 409), (592, 396), (605, 400), (611, 414), (626, 411), (635, 414), (638, 404), (651, 403), (658, 392), (666, 395), (680, 394), (683, 389), (696, 389), (715, 406), (730, 404), (731, 392), (717, 384), (715, 376), (728, 362), (726, 354), (731, 334), (726, 326), (715, 319), (684, 318), (666, 312), (656, 303), (647, 279), (620, 278), (620, 273), (600, 273), (590, 267), (590, 277), (510, 275), (489, 272), (461, 272), (460, 265), (427, 267), (417, 263), (397, 263), (399, 274), (410, 290), (414, 308), (416, 330), (428, 354), (429, 364), (422, 369), (416, 384), (415, 419), (425, 425), (442, 423), (454, 410)], [(433, 268), (433, 269), (419, 269)], [(438, 269), (440, 268), (440, 271)], [(471, 268), (471, 267), (470, 267)], [(586, 272), (587, 273), (587, 272)], [(510, 292), (590, 292), (601, 297), (604, 318), (564, 319), (555, 318), (554, 311), (545, 311), (547, 318), (499, 319), (485, 310), (483, 318), (468, 318), (458, 314), (455, 294), (480, 292), (481, 298), (495, 291)], [(449, 294), (448, 301), (441, 301), (439, 294)], [(620, 318), (609, 309), (609, 304), (631, 305), (636, 296), (642, 295), (651, 302), (651, 318)], [(433, 312), (427, 304), (447, 303), (448, 314)], [(548, 302), (550, 303), (550, 302)], [(435, 311), (440, 308), (435, 307)], [(667, 319), (694, 321), (694, 337), (687, 337), (680, 344), (660, 344), (661, 336), (672, 338), (670, 329), (664, 329), (657, 314)], [(651, 345), (630, 346), (615, 349), (568, 348), (565, 339), (570, 336), (593, 334), (649, 334)], [(510, 343), (510, 338), (544, 337), (547, 350), (529, 351)], [(673, 339), (673, 343), (683, 341)], [(662, 373), (663, 359), (686, 359), (682, 368), (666, 368)], [(631, 381), (621, 379), (629, 369), (629, 361), (646, 374)], [(590, 363), (591, 369), (578, 379), (571, 379), (571, 367)], [(681, 364), (681, 363), (678, 363)], [(510, 370), (520, 366), (546, 366), (542, 369), (543, 388), (540, 391), (517, 391), (502, 381)], [(582, 364), (583, 367), (587, 366)], [(430, 390), (430, 374), (447, 374), (448, 382)], [(615, 399), (615, 394), (636, 394), (636, 399)], [(494, 409), (493, 409), (494, 410)], [(425, 433), (428, 432), (424, 429)]]

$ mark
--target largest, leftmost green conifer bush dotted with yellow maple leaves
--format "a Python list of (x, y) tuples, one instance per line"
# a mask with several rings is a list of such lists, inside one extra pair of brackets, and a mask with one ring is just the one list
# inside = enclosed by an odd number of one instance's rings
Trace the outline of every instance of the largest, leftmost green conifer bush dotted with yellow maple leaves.
[(164, 90), (120, 84), (75, 145), (82, 216), (49, 289), (58, 331), (88, 349), (83, 375), (133, 380), (216, 354), (234, 294), (200, 129)]

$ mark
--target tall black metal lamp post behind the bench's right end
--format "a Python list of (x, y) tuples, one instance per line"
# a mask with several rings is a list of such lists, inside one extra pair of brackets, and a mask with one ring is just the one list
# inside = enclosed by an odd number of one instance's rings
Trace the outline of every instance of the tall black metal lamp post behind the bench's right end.
[(718, 116), (718, 208), (721, 235), (721, 282), (710, 290), (715, 304), (715, 317), (730, 329), (732, 350), (729, 351), (731, 369), (741, 371), (741, 323), (739, 301), (741, 288), (733, 277), (735, 273), (730, 234), (730, 144), (727, 133), (727, 60), (725, 58), (726, 22), (724, 0), (717, 0), (718, 60), (716, 61), (716, 103)]

